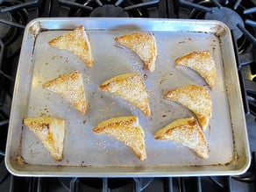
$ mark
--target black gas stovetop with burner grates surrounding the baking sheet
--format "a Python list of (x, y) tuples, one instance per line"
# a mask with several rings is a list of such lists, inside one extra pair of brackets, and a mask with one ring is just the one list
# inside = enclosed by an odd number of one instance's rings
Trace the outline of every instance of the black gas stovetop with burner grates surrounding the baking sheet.
[[(256, 191), (256, 60), (254, 0), (0, 1), (0, 191)], [(11, 97), (25, 25), (39, 17), (217, 19), (231, 29), (245, 106), (252, 164), (238, 176), (169, 178), (17, 177), (4, 165)]]

